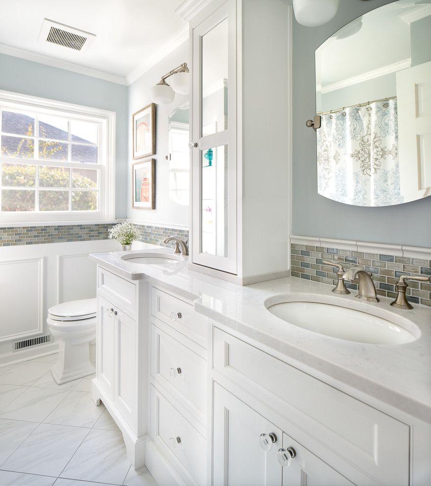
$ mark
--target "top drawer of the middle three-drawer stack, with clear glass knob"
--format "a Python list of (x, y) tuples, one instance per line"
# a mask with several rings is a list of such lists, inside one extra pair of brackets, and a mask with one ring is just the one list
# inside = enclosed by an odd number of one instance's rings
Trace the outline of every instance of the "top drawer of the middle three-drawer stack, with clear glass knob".
[(208, 347), (208, 320), (192, 305), (159, 289), (151, 291), (151, 313), (162, 322), (189, 337), (204, 348)]

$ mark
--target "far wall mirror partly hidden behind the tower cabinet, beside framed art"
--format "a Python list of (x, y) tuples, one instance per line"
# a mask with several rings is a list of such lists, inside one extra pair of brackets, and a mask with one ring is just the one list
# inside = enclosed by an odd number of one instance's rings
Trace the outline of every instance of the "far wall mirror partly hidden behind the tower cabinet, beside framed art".
[(169, 196), (189, 204), (189, 102), (169, 115)]

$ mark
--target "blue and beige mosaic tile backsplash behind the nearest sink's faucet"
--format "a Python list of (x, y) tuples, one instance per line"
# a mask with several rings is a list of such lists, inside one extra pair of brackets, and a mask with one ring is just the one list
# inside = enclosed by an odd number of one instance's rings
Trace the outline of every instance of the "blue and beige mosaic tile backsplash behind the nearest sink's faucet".
[[(401, 275), (431, 275), (431, 261), (361, 251), (342, 250), (292, 243), (292, 276), (329, 285), (337, 284), (337, 271), (322, 263), (333, 260), (344, 269), (359, 267), (372, 272), (377, 294), (397, 297), (395, 283)], [(407, 300), (431, 306), (431, 283), (409, 281)], [(357, 290), (357, 285), (346, 282), (346, 287)]]

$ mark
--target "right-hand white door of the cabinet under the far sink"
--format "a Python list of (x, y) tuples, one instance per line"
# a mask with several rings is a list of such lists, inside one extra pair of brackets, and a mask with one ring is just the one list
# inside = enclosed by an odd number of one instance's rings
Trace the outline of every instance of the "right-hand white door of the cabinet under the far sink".
[(117, 310), (115, 342), (116, 379), (114, 403), (123, 417), (134, 424), (136, 383), (136, 323)]

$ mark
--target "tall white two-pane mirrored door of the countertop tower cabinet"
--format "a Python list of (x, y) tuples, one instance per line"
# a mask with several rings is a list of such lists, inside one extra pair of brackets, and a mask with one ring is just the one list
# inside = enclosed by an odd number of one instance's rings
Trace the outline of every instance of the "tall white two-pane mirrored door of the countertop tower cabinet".
[(237, 272), (236, 18), (228, 0), (193, 29), (192, 261)]

